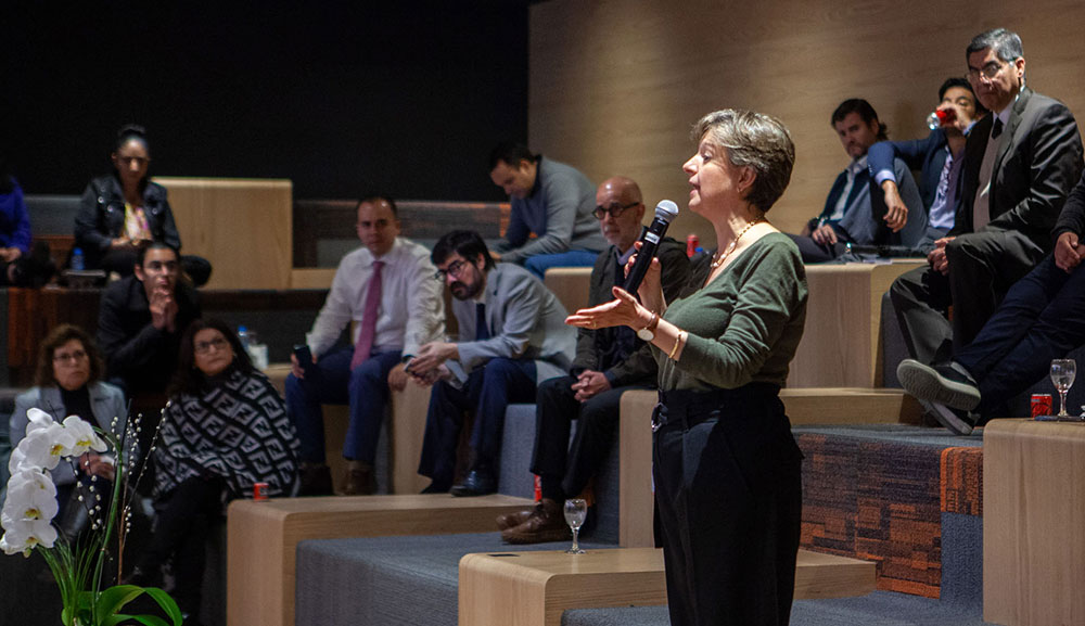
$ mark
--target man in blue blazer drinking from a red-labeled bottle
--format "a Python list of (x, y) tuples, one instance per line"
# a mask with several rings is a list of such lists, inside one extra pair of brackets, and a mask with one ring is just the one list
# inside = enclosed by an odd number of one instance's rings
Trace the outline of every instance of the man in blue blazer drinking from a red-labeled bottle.
[(870, 203), (876, 214), (907, 210), (907, 207), (899, 208), (904, 201), (893, 171), (895, 158), (921, 171), (919, 194), (927, 210), (928, 228), (919, 248), (927, 253), (953, 228), (965, 159), (965, 133), (987, 112), (976, 103), (972, 87), (965, 78), (947, 78), (942, 84), (937, 111), (950, 112), (953, 118), (931, 130), (924, 139), (881, 141), (871, 145), (867, 153), (872, 184)]

